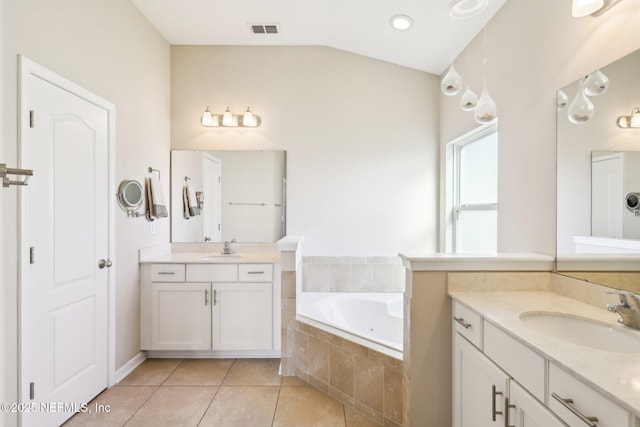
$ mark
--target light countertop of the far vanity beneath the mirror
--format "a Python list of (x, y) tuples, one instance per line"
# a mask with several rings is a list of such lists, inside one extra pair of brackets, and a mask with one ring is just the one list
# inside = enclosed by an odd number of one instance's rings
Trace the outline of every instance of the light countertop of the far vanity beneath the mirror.
[(280, 262), (280, 252), (170, 252), (141, 258), (141, 264), (273, 264)]

